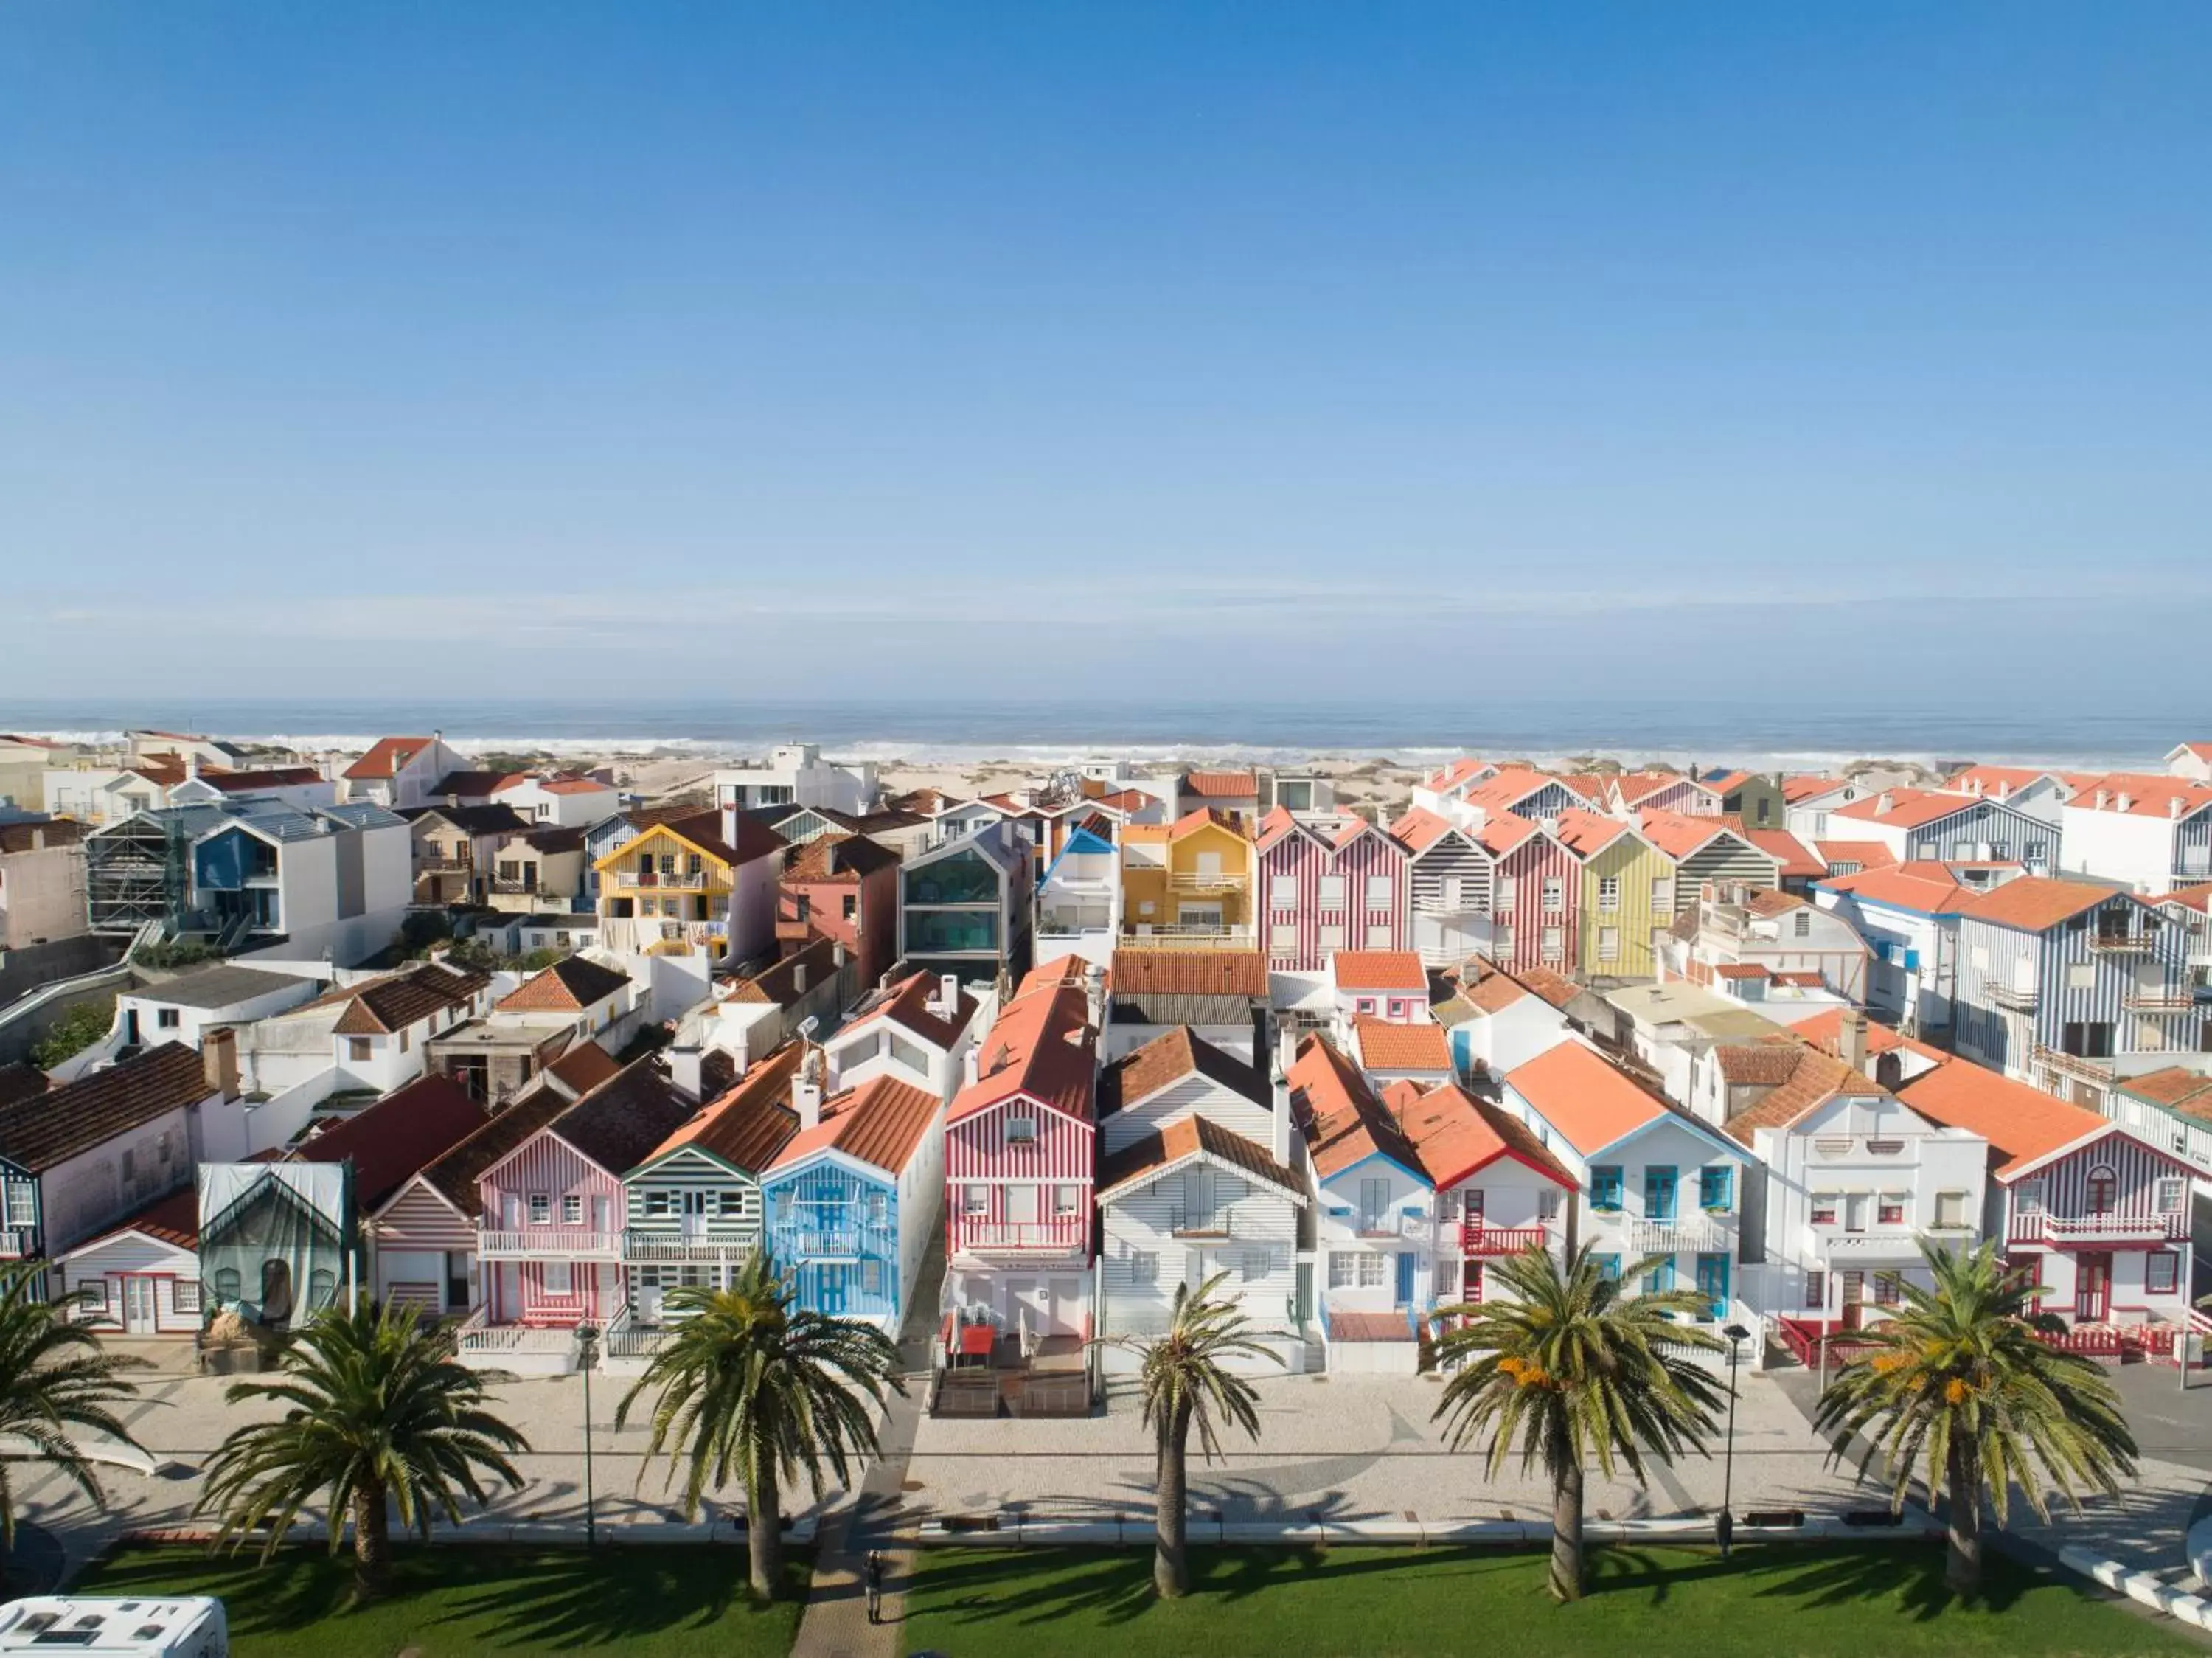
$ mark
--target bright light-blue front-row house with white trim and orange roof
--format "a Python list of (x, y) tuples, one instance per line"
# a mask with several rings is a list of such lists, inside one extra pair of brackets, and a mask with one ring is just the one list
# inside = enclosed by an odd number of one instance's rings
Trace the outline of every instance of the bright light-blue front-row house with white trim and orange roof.
[(945, 1200), (945, 1102), (896, 1076), (794, 1098), (799, 1133), (761, 1171), (768, 1248), (803, 1308), (898, 1335)]

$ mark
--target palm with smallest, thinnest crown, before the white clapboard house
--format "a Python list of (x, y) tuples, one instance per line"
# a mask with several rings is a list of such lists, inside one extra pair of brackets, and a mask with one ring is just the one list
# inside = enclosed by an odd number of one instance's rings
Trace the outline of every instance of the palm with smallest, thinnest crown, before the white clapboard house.
[(1265, 1330), (1250, 1328), (1237, 1302), (1214, 1291), (1228, 1273), (1214, 1273), (1192, 1293), (1175, 1286), (1164, 1335), (1110, 1335), (1108, 1344), (1144, 1357), (1144, 1426), (1152, 1430), (1152, 1589), (1164, 1598), (1190, 1594), (1190, 1514), (1188, 1454), (1190, 1430), (1199, 1430), (1199, 1450), (1212, 1461), (1221, 1450), (1214, 1417), (1243, 1428), (1259, 1439), (1259, 1395), (1252, 1384), (1225, 1366), (1237, 1355), (1283, 1361), (1274, 1348), (1261, 1346)]

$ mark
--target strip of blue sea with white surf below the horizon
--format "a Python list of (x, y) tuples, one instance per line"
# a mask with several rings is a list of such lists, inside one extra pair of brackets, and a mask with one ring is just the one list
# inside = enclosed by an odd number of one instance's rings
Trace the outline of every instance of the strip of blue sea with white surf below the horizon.
[[(1856, 702), (1856, 697), (1854, 697)], [(973, 702), (973, 700), (11, 700), (0, 730), (115, 735), (128, 726), (204, 730), (296, 748), (363, 746), (442, 730), (462, 748), (761, 753), (818, 742), (852, 759), (1051, 764), (1082, 755), (1290, 761), (1360, 755), (1425, 764), (1440, 755), (1610, 755), (1635, 764), (1820, 768), (1863, 757), (2035, 759), (2073, 768), (2159, 768), (2177, 742), (2212, 735), (2205, 708), (2126, 713), (2042, 706), (1774, 706), (1732, 702), (1575, 702), (1555, 697), (1371, 702)]]

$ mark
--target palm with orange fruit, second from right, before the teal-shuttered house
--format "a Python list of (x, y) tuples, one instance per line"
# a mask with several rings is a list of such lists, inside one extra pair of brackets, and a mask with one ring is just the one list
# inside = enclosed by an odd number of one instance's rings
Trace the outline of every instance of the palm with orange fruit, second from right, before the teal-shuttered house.
[[(1628, 1277), (1652, 1271), (1637, 1262)], [(1491, 1268), (1502, 1291), (1471, 1306), (1440, 1308), (1464, 1319), (1436, 1346), (1460, 1364), (1436, 1417), (1451, 1419), (1451, 1448), (1491, 1434), (1489, 1479), (1520, 1443), (1522, 1474), (1542, 1465), (1551, 1476), (1551, 1592), (1582, 1598), (1582, 1472), (1595, 1457), (1613, 1476), (1624, 1463), (1644, 1483), (1644, 1457), (1672, 1463), (1686, 1450), (1705, 1452), (1714, 1410), (1728, 1397), (1719, 1377), (1690, 1357), (1719, 1353), (1723, 1341), (1677, 1317), (1705, 1313), (1697, 1291), (1628, 1295), (1599, 1271), (1588, 1246), (1562, 1271), (1544, 1248), (1528, 1248)]]

